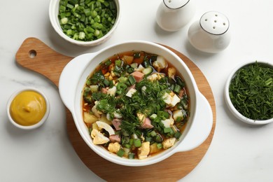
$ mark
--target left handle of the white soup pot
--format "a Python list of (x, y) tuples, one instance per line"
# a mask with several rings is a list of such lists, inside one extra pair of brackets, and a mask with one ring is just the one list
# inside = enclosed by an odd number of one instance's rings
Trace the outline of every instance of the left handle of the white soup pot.
[(78, 80), (80, 79), (85, 66), (87, 66), (94, 55), (94, 53), (87, 53), (73, 58), (66, 64), (59, 76), (59, 95), (64, 105), (70, 111), (73, 111)]

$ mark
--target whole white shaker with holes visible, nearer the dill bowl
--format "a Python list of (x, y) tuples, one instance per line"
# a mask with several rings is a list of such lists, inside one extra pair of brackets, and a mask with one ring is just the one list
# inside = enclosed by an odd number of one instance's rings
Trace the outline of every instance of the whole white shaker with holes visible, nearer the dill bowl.
[(188, 29), (188, 40), (197, 50), (216, 53), (230, 44), (230, 22), (217, 11), (204, 13), (200, 20)]

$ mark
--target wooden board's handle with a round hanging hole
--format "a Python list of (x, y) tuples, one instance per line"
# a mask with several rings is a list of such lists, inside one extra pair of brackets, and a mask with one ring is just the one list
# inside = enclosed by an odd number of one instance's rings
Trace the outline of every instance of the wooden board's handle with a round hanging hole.
[(52, 50), (48, 45), (34, 37), (25, 39), (15, 58), (20, 66), (41, 73), (50, 79), (52, 83), (55, 83), (57, 87), (59, 86), (59, 76), (62, 69), (73, 59), (73, 57)]

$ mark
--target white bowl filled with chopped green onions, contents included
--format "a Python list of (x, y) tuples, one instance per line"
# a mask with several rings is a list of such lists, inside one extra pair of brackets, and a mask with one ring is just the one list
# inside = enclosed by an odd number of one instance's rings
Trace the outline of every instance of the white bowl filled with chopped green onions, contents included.
[(118, 0), (51, 0), (49, 18), (57, 34), (76, 45), (108, 40), (120, 20)]

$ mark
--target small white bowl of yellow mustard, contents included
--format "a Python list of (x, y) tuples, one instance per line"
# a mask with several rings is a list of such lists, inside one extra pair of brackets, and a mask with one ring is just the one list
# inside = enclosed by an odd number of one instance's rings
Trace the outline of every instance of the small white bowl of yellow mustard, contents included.
[(43, 92), (35, 88), (24, 88), (10, 96), (7, 113), (10, 123), (31, 130), (45, 123), (50, 113), (50, 104)]

